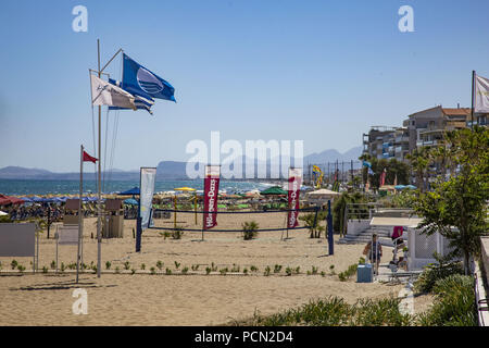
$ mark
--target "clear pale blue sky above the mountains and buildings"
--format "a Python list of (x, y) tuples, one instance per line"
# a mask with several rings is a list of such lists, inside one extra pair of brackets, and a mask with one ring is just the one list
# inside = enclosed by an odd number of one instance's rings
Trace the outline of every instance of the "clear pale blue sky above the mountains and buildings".
[[(72, 9), (88, 9), (88, 33)], [(414, 10), (400, 33), (398, 10)], [(187, 160), (192, 139), (304, 140), (304, 154), (360, 146), (371, 125), (471, 105), (489, 76), (487, 1), (2, 1), (0, 167), (77, 171), (92, 152), (88, 69), (118, 48), (168, 80), (177, 103), (120, 113), (113, 166)], [(121, 60), (108, 69), (117, 77)], [(105, 125), (106, 113), (102, 112)], [(109, 145), (114, 115), (109, 115)], [(97, 121), (97, 120), (96, 120)], [(105, 130), (103, 130), (105, 132)], [(104, 135), (104, 133), (103, 133)]]

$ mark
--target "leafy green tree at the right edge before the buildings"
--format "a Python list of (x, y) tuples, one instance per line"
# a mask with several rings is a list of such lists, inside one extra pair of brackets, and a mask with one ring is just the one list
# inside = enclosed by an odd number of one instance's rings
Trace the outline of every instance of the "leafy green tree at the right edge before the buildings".
[(468, 274), (469, 259), (479, 254), (480, 236), (488, 229), (489, 129), (455, 130), (449, 139), (450, 160), (459, 173), (447, 182), (438, 179), (432, 191), (419, 195), (414, 209), (423, 216), (419, 227), (447, 237), (452, 256), (463, 257)]

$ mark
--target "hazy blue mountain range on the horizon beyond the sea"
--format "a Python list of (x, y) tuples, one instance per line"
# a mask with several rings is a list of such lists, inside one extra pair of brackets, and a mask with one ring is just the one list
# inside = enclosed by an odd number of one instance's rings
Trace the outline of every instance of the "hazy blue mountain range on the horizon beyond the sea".
[[(348, 150), (344, 153), (340, 153), (335, 149), (325, 150), (321, 153), (312, 153), (305, 156), (303, 159), (304, 167), (308, 164), (318, 164), (324, 165), (328, 162), (349, 162), (351, 160), (358, 161), (362, 153), (362, 147), (356, 147)], [(293, 159), (291, 159), (293, 164)], [(193, 163), (197, 165), (198, 163)], [(251, 165), (252, 162), (247, 158), (242, 157), (242, 174), (244, 176), (247, 166)], [(254, 174), (258, 177), (258, 166), (262, 164), (258, 160), (254, 160)], [(199, 173), (203, 173), (203, 164), (199, 165)], [(271, 176), (271, 160), (266, 161), (266, 173), (267, 178)], [(161, 161), (156, 166), (156, 179), (188, 179), (187, 176), (187, 162), (179, 161)], [(103, 175), (103, 173), (102, 173)], [(284, 175), (285, 177), (287, 174)], [(27, 169), (22, 166), (5, 166), (0, 169), (0, 179), (58, 179), (58, 181), (77, 181), (79, 178), (79, 173), (53, 173), (47, 170), (40, 169)], [(84, 173), (85, 179), (97, 179), (93, 170)], [(113, 169), (110, 173), (105, 173), (105, 179), (111, 181), (137, 181), (139, 179), (139, 171), (122, 171)]]

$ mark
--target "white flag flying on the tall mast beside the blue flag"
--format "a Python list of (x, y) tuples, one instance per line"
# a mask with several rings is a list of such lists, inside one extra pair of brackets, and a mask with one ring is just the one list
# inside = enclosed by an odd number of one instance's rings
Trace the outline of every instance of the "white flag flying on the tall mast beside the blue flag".
[(134, 96), (124, 89), (109, 84), (103, 79), (90, 75), (91, 79), (91, 103), (93, 105), (110, 105), (129, 108), (136, 110)]

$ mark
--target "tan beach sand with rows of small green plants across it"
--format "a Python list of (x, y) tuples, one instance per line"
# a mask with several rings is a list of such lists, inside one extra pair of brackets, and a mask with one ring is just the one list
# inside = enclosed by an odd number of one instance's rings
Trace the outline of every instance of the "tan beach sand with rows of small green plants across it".
[[(201, 215), (199, 216), (199, 220)], [(218, 216), (218, 228), (237, 228), (241, 222), (254, 219), (260, 226), (283, 227), (285, 214), (236, 214)], [(179, 215), (178, 224), (199, 228), (193, 215)], [(362, 245), (335, 245), (335, 254), (328, 256), (326, 239), (311, 239), (309, 232), (263, 232), (256, 239), (243, 240), (240, 233), (206, 232), (204, 241), (201, 233), (186, 232), (181, 239), (164, 238), (161, 231), (148, 229), (143, 233), (141, 252), (135, 252), (133, 238), (134, 220), (126, 220), (124, 238), (104, 239), (102, 244), (102, 276), (92, 272), (80, 275), (75, 284), (73, 271), (55, 274), (39, 272), (33, 274), (32, 258), (15, 258), (26, 266), (23, 275), (10, 271), (14, 258), (0, 258), (3, 271), (0, 273), (0, 325), (218, 325), (252, 316), (255, 311), (271, 314), (290, 307), (297, 307), (310, 299), (340, 296), (348, 302), (360, 298), (398, 296), (402, 285), (359, 284), (355, 276), (340, 282), (330, 274), (330, 265), (336, 273), (356, 263), (362, 256)], [(322, 222), (324, 224), (324, 222)], [(171, 220), (156, 220), (159, 226), (173, 226)], [(97, 263), (96, 219), (85, 220), (84, 262)], [(45, 233), (46, 235), (46, 233)], [(336, 237), (337, 239), (337, 237)], [(386, 250), (387, 251), (387, 250)], [(75, 262), (76, 247), (59, 247), (60, 263)], [(386, 258), (389, 252), (384, 252)], [(53, 239), (41, 238), (39, 268), (50, 265), (55, 258)], [(150, 274), (161, 260), (162, 271)], [(112, 263), (111, 270), (105, 262)], [(128, 261), (136, 274), (124, 270)], [(175, 261), (180, 263), (176, 269)], [(217, 272), (205, 275), (205, 268), (214, 262)], [(388, 262), (388, 260), (383, 260)], [(141, 270), (141, 263), (146, 270)], [(199, 265), (192, 271), (192, 265)], [(280, 264), (279, 273), (274, 273), (275, 264)], [(254, 265), (258, 272), (250, 272)], [(271, 275), (265, 276), (269, 265)], [(181, 269), (187, 266), (188, 274)], [(239, 266), (240, 272), (221, 275), (218, 270)], [(286, 268), (300, 266), (300, 274), (286, 275)], [(308, 275), (312, 266), (318, 274)], [(118, 268), (120, 274), (114, 270)], [(165, 269), (173, 275), (166, 275)], [(249, 275), (242, 270), (247, 268)], [(30, 269), (30, 270), (29, 270)], [(319, 273), (324, 271), (326, 275)], [(88, 314), (72, 312), (72, 297), (75, 288), (84, 288), (88, 295)]]

